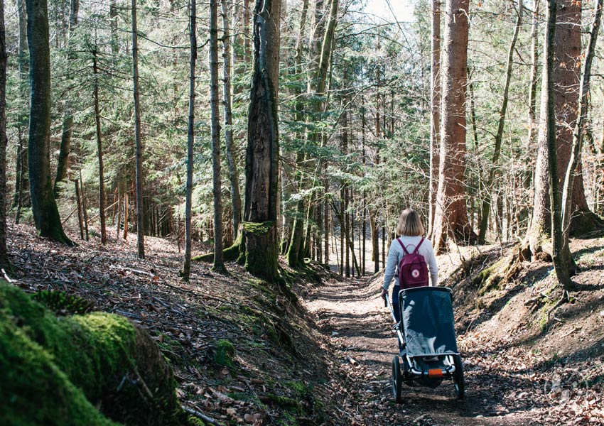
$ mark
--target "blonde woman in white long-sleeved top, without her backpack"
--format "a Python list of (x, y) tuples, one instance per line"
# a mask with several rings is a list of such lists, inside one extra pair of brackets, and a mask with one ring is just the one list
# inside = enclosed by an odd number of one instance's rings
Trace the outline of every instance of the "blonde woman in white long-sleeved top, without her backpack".
[[(384, 272), (384, 284), (382, 285), (382, 293), (380, 296), (385, 299), (390, 282), (394, 278), (394, 288), (392, 289), (392, 309), (394, 310), (394, 317), (397, 318), (397, 322), (401, 320), (401, 312), (399, 310), (399, 291), (401, 286), (399, 285), (399, 277), (395, 277), (394, 273), (397, 271), (399, 262), (404, 257), (405, 253), (402, 246), (405, 246), (408, 253), (413, 253), (419, 246), (418, 253), (424, 256), (426, 265), (431, 278), (431, 285), (438, 285), (438, 266), (436, 266), (436, 258), (434, 257), (434, 251), (432, 250), (432, 243), (428, 239), (424, 239), (424, 226), (421, 224), (421, 218), (418, 212), (414, 209), (404, 209), (399, 217), (399, 223), (397, 224), (397, 234), (400, 235), (400, 243), (397, 239), (392, 240), (390, 243), (390, 249), (388, 251), (388, 260), (386, 262), (386, 271)], [(422, 241), (423, 239), (423, 241)]]

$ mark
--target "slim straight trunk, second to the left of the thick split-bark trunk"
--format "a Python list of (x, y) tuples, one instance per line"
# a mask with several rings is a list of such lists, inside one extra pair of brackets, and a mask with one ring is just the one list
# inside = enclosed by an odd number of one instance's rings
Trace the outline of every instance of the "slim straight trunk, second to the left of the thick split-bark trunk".
[(212, 125), (212, 195), (214, 200), (214, 269), (222, 271), (222, 177), (218, 113), (218, 1), (210, 0), (210, 114)]

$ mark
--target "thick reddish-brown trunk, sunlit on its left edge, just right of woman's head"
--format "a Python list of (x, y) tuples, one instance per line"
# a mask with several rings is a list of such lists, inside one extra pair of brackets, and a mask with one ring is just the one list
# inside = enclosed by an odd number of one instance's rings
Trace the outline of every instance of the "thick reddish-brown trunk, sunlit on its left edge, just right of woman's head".
[(478, 237), (465, 207), (465, 87), (468, 71), (469, 0), (447, 0), (443, 55), (441, 161), (433, 244), (446, 251), (447, 239), (474, 243)]

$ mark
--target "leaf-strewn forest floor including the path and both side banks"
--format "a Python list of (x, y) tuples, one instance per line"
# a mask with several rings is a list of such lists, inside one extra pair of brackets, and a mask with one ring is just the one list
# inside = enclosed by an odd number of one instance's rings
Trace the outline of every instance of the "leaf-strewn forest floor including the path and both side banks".
[(311, 265), (272, 287), (234, 264), (220, 275), (196, 263), (183, 283), (182, 255), (165, 239), (146, 238), (140, 261), (134, 238), (69, 249), (31, 226), (10, 230), (16, 285), (80, 295), (143, 325), (173, 365), (180, 402), (221, 425), (604, 424), (601, 237), (573, 241), (579, 290), (559, 306), (549, 263), (497, 276), (509, 247), (438, 258), (455, 295), (467, 396), (457, 400), (452, 383), (406, 387), (396, 405), (380, 275), (342, 280)]

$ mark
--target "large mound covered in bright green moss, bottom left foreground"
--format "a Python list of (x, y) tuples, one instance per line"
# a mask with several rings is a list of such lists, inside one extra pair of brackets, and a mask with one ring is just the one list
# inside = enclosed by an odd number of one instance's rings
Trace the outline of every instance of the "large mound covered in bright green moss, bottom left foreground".
[[(0, 282), (0, 324), (0, 413), (9, 413), (0, 424), (112, 424), (106, 417), (126, 425), (187, 424), (171, 368), (149, 334), (126, 318), (56, 317)], [(76, 414), (85, 420), (73, 420)]]

